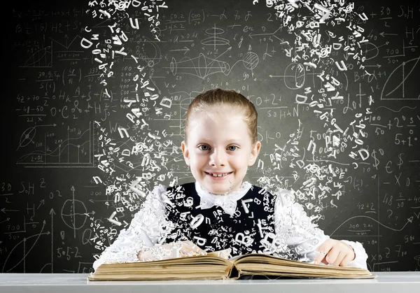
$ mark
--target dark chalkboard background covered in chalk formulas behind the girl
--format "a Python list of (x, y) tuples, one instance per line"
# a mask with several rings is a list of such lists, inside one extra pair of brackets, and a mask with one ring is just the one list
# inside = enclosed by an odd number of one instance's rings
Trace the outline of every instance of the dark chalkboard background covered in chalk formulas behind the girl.
[[(270, 1), (34, 2), (12, 3), (3, 25), (3, 273), (92, 271), (144, 201), (133, 190), (193, 180), (183, 118), (215, 87), (258, 109), (246, 180), (293, 188), (325, 234), (363, 243), (371, 271), (420, 269), (417, 1), (357, 1), (362, 29), (321, 24), (321, 43), (356, 50), (316, 68), (293, 59), (307, 8), (284, 22)], [(348, 54), (360, 50), (363, 62)]]

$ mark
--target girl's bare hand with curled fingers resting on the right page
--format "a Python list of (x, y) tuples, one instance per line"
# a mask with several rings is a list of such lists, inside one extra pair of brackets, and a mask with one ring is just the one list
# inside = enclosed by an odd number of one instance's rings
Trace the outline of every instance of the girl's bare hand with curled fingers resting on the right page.
[(347, 266), (355, 257), (350, 245), (335, 239), (327, 239), (316, 250), (314, 264), (333, 264), (335, 266)]

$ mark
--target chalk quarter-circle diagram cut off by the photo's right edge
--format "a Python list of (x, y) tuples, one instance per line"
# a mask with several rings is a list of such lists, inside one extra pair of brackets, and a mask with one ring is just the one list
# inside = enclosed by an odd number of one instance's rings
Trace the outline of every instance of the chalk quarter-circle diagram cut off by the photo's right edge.
[[(419, 92), (416, 94), (409, 94), (410, 96), (414, 96), (416, 98), (410, 99), (405, 97), (405, 83), (409, 85), (419, 83), (418, 78), (420, 73), (417, 72), (419, 71), (419, 67), (417, 66), (419, 60), (420, 56), (410, 59), (407, 62), (402, 62), (402, 64), (397, 66), (391, 74), (389, 74), (384, 87), (382, 87), (381, 100), (420, 100)], [(414, 71), (414, 69), (416, 69), (416, 71)], [(389, 83), (388, 85), (390, 80), (392, 80), (393, 83)], [(398, 85), (395, 86), (395, 83), (398, 83)]]

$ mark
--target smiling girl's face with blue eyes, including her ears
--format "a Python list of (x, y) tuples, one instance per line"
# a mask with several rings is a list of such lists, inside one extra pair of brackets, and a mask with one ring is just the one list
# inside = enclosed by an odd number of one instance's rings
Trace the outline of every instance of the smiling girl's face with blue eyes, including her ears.
[[(260, 141), (251, 145), (248, 125), (232, 108), (218, 108), (218, 113), (195, 113), (192, 118), (188, 145), (183, 141), (181, 149), (195, 180), (214, 194), (225, 194), (230, 187), (231, 191), (239, 190), (248, 166), (258, 157)], [(211, 173), (223, 174), (223, 177), (214, 177)]]

